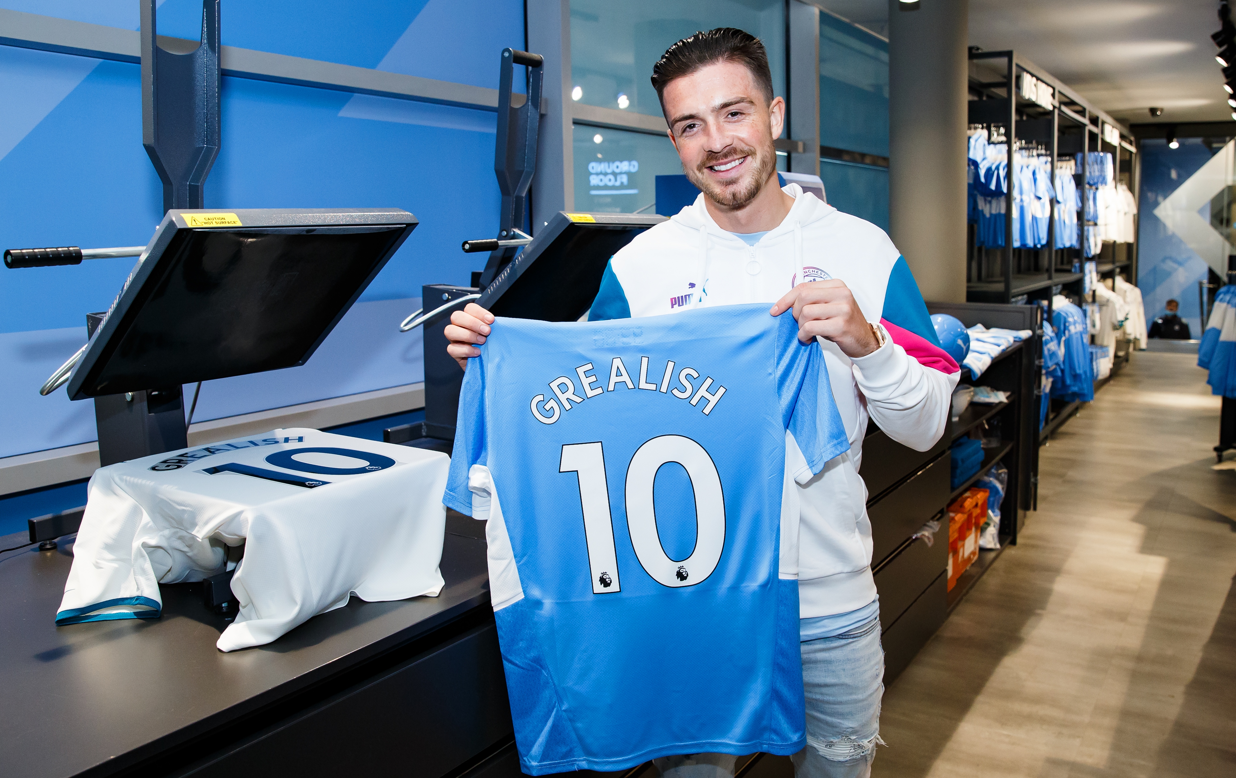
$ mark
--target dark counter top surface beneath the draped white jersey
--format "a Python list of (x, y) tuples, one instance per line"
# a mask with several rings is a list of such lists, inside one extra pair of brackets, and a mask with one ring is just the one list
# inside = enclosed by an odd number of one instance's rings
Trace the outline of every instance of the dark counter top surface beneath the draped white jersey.
[[(10, 777), (105, 776), (260, 716), (361, 664), (488, 610), (486, 545), (455, 516), (436, 598), (363, 603), (266, 646), (222, 653), (227, 626), (193, 584), (162, 587), (163, 616), (56, 626), (72, 538), (0, 556), (0, 759)], [(471, 537), (468, 537), (471, 536)], [(0, 547), (23, 542), (0, 537)], [(381, 542), (381, 540), (375, 540)]]

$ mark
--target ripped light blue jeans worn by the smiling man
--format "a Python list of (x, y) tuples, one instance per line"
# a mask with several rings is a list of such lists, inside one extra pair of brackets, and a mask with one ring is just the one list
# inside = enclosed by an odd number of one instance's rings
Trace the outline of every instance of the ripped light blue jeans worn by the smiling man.
[[(796, 778), (866, 778), (880, 740), (884, 650), (880, 620), (802, 645), (807, 747), (794, 755)], [(665, 778), (733, 778), (737, 757), (693, 753), (654, 759)]]

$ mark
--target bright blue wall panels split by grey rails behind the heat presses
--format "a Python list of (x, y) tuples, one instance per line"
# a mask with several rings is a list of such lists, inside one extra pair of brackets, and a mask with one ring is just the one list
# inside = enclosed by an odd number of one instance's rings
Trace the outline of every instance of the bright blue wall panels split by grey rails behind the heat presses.
[[(0, 2), (135, 28), (136, 1)], [(499, 52), (523, 48), (523, 4), (229, 2), (224, 43), (497, 86)], [(164, 35), (197, 33), (199, 0), (161, 4)], [(129, 16), (126, 16), (129, 15)], [(183, 30), (180, 27), (184, 27)], [(465, 35), (466, 32), (466, 35)], [(132, 246), (161, 216), (141, 147), (140, 68), (0, 46), (0, 248)], [(426, 283), (466, 283), (467, 237), (497, 228), (496, 114), (225, 78), (222, 149), (208, 207), (402, 207), (421, 225), (309, 364), (203, 388), (197, 420), (420, 380), (419, 333), (398, 321)], [(89, 403), (37, 387), (110, 305), (132, 259), (0, 269), (0, 457), (94, 440)]]

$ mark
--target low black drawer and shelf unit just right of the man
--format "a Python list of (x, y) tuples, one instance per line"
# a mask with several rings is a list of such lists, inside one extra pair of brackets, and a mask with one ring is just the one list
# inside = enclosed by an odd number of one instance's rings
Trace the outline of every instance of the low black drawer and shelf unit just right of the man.
[[(1001, 508), (1001, 548), (1017, 542), (1017, 532), (1033, 509), (1038, 469), (1037, 385), (1039, 316), (1037, 305), (932, 304), (933, 314), (957, 316), (967, 326), (1030, 330), (1035, 336), (997, 357), (974, 382), (968, 370), (962, 380), (1007, 391), (1007, 401), (996, 405), (971, 404), (929, 451), (913, 451), (894, 441), (874, 424), (863, 442), (860, 474), (868, 489), (871, 520), (873, 572), (880, 593), (880, 621), (884, 629), (885, 683), (904, 671), (925, 642), (944, 622), (974, 580), (999, 554), (981, 552), (953, 590), (948, 590), (948, 521), (944, 509), (999, 463), (1009, 468), (1009, 484)], [(949, 448), (971, 432), (997, 440), (984, 451), (978, 473), (959, 484), (949, 484)], [(936, 541), (927, 545), (916, 532), (941, 517)]]

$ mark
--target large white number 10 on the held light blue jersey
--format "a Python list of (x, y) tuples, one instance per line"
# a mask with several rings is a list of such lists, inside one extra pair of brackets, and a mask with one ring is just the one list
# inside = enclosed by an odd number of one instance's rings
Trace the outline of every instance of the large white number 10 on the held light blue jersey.
[[(676, 462), (691, 478), (695, 491), (696, 545), (685, 559), (665, 553), (656, 531), (653, 484), (662, 464)], [(614, 543), (606, 480), (604, 451), (599, 442), (562, 446), (560, 473), (576, 473), (580, 505), (588, 550), (593, 594), (622, 590), (618, 550)], [(635, 451), (627, 466), (627, 531), (640, 567), (662, 587), (681, 588), (703, 583), (717, 569), (726, 547), (726, 500), (721, 475), (703, 446), (681, 435), (661, 435)]]

